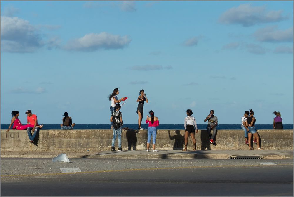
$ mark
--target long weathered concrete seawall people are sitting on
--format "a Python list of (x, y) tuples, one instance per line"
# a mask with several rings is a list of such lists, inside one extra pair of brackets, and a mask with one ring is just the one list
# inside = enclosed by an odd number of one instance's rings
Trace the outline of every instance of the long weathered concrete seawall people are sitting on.
[[(157, 149), (182, 149), (184, 130), (157, 130)], [(258, 130), (261, 146), (270, 150), (293, 150), (293, 130)], [(26, 130), (1, 130), (1, 150), (110, 150), (112, 130), (41, 130), (38, 146), (29, 142)], [(147, 130), (122, 132), (122, 148), (124, 150), (146, 149)], [(198, 130), (195, 134), (197, 149), (238, 150), (248, 149), (245, 144), (243, 130), (218, 130), (217, 145), (208, 142), (206, 130)], [(152, 139), (151, 139), (152, 144)], [(116, 148), (118, 142), (116, 139)], [(151, 146), (152, 147), (152, 146)], [(254, 144), (254, 148), (257, 145)], [(188, 139), (188, 150), (193, 149), (192, 139)]]

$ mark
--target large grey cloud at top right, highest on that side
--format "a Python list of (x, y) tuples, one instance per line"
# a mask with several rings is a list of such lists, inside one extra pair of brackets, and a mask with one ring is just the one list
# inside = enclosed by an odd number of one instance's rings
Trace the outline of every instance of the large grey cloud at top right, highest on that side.
[(283, 11), (265, 12), (265, 6), (253, 7), (251, 4), (242, 4), (225, 11), (219, 18), (224, 24), (242, 24), (249, 27), (255, 24), (278, 22), (287, 19), (282, 16)]

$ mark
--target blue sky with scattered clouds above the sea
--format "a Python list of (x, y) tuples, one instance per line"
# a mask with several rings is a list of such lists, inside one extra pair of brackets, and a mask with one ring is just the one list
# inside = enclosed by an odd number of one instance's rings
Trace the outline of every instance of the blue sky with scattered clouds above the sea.
[(1, 1), (1, 124), (110, 124), (114, 88), (124, 124), (141, 89), (142, 124), (293, 124), (293, 1)]

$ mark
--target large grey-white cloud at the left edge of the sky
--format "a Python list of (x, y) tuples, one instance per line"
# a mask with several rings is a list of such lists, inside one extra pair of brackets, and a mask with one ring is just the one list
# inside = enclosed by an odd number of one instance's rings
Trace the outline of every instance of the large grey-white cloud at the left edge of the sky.
[(41, 34), (29, 21), (19, 17), (1, 16), (1, 50), (34, 52), (44, 45)]

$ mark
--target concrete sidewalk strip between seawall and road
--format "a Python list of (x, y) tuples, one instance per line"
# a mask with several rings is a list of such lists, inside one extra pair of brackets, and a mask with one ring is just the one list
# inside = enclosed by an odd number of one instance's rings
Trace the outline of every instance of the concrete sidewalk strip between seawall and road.
[(1, 151), (1, 158), (53, 158), (65, 153), (68, 158), (92, 159), (293, 159), (293, 150), (145, 150), (125, 151)]

